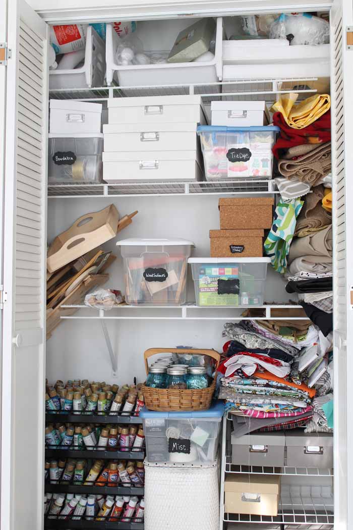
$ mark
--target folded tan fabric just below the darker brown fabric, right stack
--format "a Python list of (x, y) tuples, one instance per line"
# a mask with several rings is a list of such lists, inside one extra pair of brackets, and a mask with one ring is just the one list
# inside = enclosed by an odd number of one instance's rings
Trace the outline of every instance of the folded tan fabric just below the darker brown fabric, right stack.
[(289, 250), (288, 263), (300, 258), (312, 263), (332, 263), (332, 226), (305, 237), (296, 237)]

